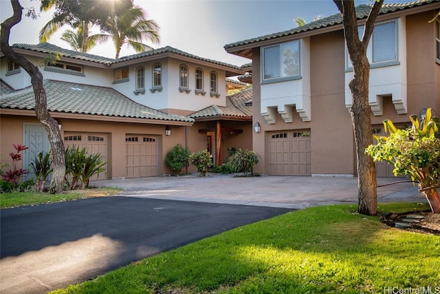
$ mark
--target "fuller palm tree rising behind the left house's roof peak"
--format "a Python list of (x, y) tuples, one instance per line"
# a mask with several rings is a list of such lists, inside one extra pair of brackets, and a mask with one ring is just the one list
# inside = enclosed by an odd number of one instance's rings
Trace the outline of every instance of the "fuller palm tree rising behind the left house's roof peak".
[(159, 43), (159, 26), (152, 19), (146, 19), (146, 14), (139, 6), (133, 6), (121, 14), (114, 14), (108, 23), (108, 37), (115, 45), (116, 56), (119, 58), (124, 44), (129, 45), (136, 52), (152, 50), (150, 46), (142, 43), (144, 39), (152, 43)]

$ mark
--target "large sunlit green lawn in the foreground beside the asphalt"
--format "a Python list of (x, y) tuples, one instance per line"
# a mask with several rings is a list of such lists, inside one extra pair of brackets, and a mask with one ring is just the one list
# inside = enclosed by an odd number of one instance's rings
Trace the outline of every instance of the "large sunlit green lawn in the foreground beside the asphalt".
[[(387, 227), (355, 205), (293, 211), (54, 293), (384, 293), (440, 286), (440, 237)], [(419, 211), (426, 204), (382, 204)]]

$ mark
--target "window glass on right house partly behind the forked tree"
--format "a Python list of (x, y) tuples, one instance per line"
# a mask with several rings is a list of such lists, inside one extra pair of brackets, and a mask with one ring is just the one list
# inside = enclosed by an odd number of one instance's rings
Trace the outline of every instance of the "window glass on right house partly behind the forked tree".
[[(359, 27), (358, 32), (361, 39), (364, 34), (364, 27)], [(369, 47), (366, 50), (366, 56), (371, 65), (397, 62), (397, 21), (395, 19), (375, 24)], [(347, 68), (353, 67), (348, 53), (346, 63)]]

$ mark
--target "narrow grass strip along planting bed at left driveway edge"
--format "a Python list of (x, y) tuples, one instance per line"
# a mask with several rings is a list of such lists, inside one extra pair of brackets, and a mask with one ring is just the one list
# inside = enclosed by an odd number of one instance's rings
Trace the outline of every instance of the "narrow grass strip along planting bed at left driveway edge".
[(66, 191), (60, 194), (37, 192), (0, 193), (0, 207), (4, 209), (23, 205), (45, 204), (91, 197), (111, 196), (116, 195), (121, 191), (122, 189), (119, 188), (93, 188)]

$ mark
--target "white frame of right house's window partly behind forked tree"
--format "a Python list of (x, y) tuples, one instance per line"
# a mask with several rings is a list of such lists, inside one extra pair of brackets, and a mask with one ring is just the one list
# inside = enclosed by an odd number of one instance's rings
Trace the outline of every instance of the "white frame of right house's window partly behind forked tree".
[[(386, 23), (394, 23), (395, 24), (395, 32), (394, 32), (394, 41), (395, 41), (395, 59), (389, 59), (384, 61), (373, 62), (374, 52), (373, 52), (373, 35), (377, 25), (384, 25)], [(375, 23), (375, 29), (373, 30), (373, 34), (371, 34), (370, 42), (368, 47), (366, 48), (366, 57), (369, 59), (369, 63), (371, 68), (374, 67), (382, 67), (388, 65), (398, 65), (399, 64), (399, 21), (398, 19), (389, 19), (386, 21), (380, 21)], [(358, 27), (359, 39), (362, 39), (364, 34), (364, 25)], [(345, 46), (345, 69), (347, 71), (353, 70), (353, 64), (351, 63), (349, 52), (347, 50), (347, 44)]]

